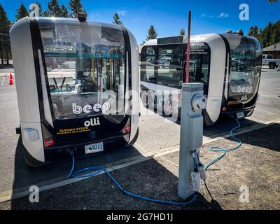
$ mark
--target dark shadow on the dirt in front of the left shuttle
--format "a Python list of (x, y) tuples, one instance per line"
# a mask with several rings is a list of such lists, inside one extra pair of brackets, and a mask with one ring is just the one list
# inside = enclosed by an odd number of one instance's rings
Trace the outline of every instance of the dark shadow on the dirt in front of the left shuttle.
[[(137, 195), (184, 202), (177, 196), (177, 176), (154, 159), (110, 174), (123, 189)], [(139, 200), (122, 193), (105, 174), (41, 192), (39, 199), (38, 203), (30, 203), (29, 197), (13, 200), (11, 209), (221, 209), (218, 202), (208, 202), (200, 193), (195, 202), (183, 207)]]

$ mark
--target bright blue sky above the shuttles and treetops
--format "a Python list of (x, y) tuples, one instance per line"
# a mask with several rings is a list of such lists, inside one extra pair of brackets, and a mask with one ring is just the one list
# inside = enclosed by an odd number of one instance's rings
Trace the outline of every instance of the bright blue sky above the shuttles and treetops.
[[(38, 0), (40, 1), (40, 0)], [(0, 0), (8, 18), (15, 20), (16, 8), (20, 3), (29, 6), (32, 0)], [(40, 1), (43, 10), (48, 0)], [(58, 0), (59, 4), (68, 6), (69, 0)], [(176, 36), (181, 28), (187, 27), (188, 10), (193, 13), (192, 34), (223, 33), (225, 30), (243, 29), (245, 32), (252, 25), (265, 27), (268, 22), (280, 19), (280, 2), (269, 3), (268, 0), (82, 0), (89, 20), (112, 22), (113, 13), (118, 12), (125, 26), (132, 31), (139, 43), (146, 38), (148, 27), (154, 25), (158, 36)], [(239, 20), (239, 5), (249, 6), (249, 20)]]

